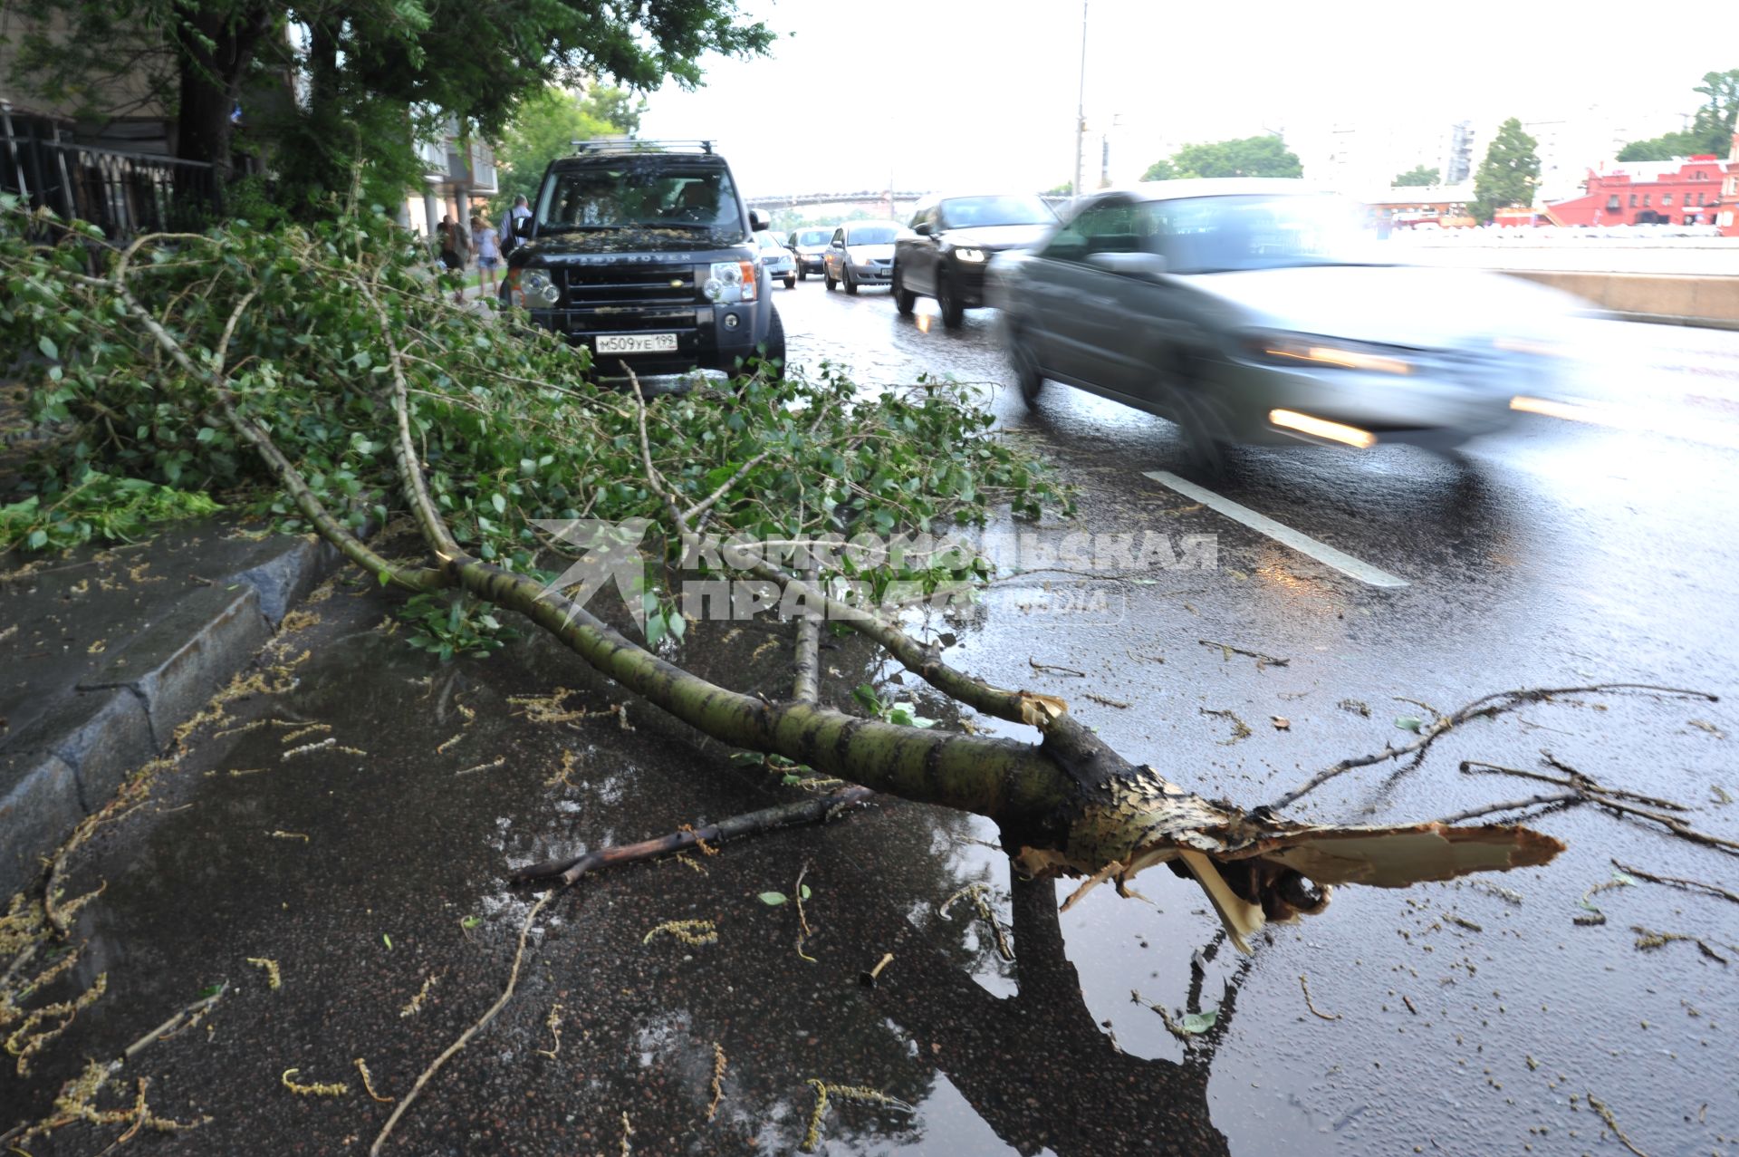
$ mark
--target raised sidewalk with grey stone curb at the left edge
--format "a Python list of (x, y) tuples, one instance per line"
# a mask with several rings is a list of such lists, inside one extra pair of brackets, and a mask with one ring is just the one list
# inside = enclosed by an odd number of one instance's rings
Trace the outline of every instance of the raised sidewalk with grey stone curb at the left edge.
[(313, 538), (214, 520), (0, 574), (0, 896), (160, 755), (336, 562)]

